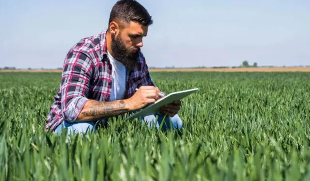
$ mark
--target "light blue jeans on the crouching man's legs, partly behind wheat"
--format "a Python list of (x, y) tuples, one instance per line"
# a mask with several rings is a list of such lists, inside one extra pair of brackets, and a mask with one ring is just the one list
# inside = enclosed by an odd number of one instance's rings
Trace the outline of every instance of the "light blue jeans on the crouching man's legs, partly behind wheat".
[[(165, 118), (165, 119), (164, 119)], [(164, 120), (164, 122), (163, 122)], [(171, 130), (171, 129), (182, 129), (182, 120), (178, 115), (175, 115), (174, 117), (164, 117), (161, 114), (155, 114), (150, 116), (145, 116), (140, 118), (140, 121), (145, 121), (149, 128), (153, 128), (153, 126), (156, 123), (156, 129), (159, 129), (160, 125), (162, 124), (161, 129), (163, 131)], [(172, 128), (171, 128), (172, 126)], [(86, 133), (87, 131), (96, 131), (95, 124), (91, 121), (83, 121), (83, 122), (75, 122), (75, 123), (69, 123), (66, 121), (62, 121), (62, 124), (60, 124), (54, 132), (59, 134), (62, 129), (68, 129), (68, 134), (71, 134), (74, 132), (77, 133)]]

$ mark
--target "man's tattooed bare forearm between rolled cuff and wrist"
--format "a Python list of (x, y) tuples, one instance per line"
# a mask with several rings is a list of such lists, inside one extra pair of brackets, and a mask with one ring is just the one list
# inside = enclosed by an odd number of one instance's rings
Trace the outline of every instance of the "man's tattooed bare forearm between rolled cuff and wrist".
[(90, 116), (92, 119), (104, 119), (110, 116), (119, 115), (128, 110), (124, 108), (125, 103), (123, 100), (121, 101), (111, 101), (94, 104), (90, 108), (82, 111), (83, 116)]

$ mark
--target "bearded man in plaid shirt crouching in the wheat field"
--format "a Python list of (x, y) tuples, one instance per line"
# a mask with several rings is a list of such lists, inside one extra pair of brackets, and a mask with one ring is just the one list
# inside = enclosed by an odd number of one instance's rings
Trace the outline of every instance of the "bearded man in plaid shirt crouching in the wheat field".
[[(140, 51), (142, 38), (153, 23), (135, 0), (120, 0), (112, 8), (109, 28), (80, 40), (66, 55), (62, 81), (47, 116), (46, 130), (69, 133), (95, 130), (95, 123), (137, 111), (159, 99)], [(138, 89), (136, 91), (136, 89)], [(163, 106), (160, 114), (145, 116), (150, 127), (182, 128), (180, 101)], [(155, 122), (157, 120), (157, 122)]]

